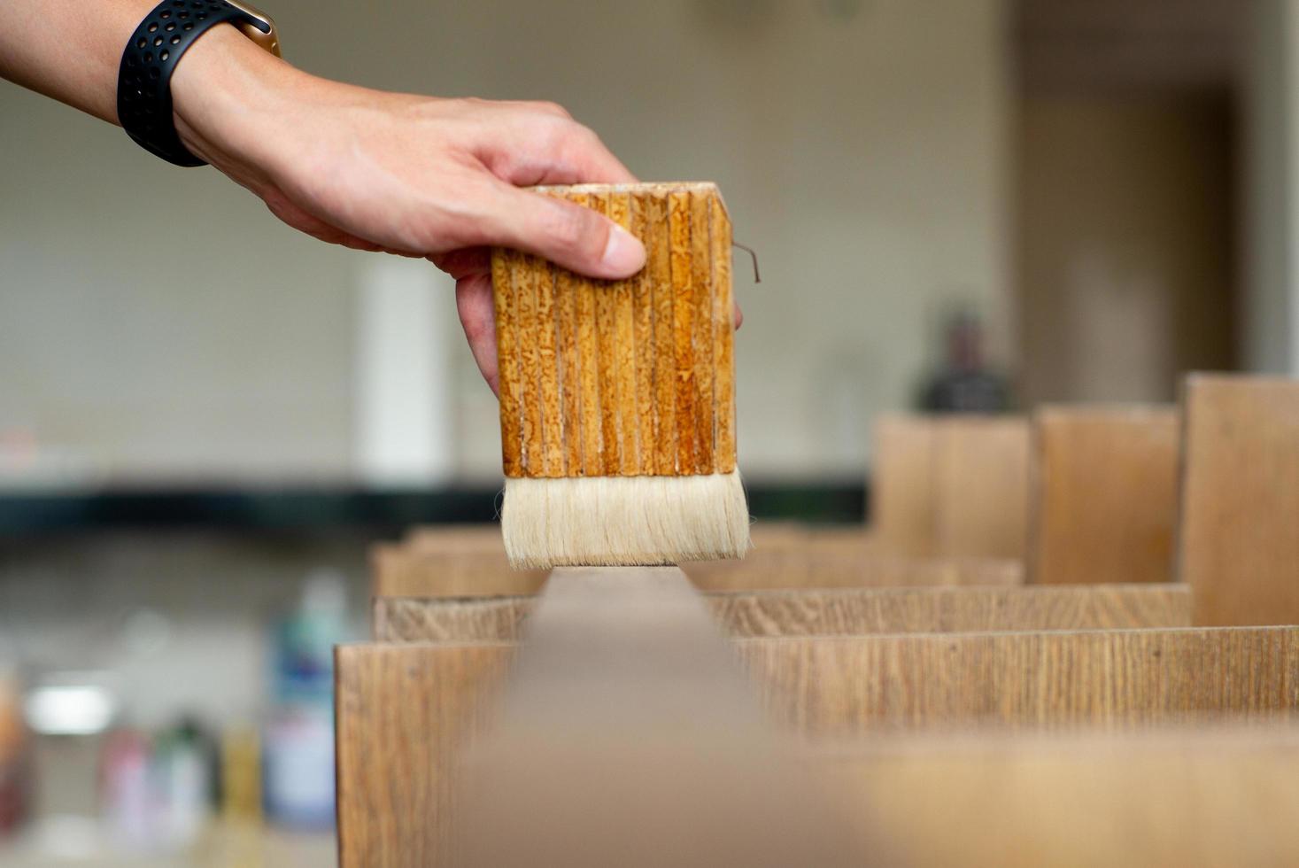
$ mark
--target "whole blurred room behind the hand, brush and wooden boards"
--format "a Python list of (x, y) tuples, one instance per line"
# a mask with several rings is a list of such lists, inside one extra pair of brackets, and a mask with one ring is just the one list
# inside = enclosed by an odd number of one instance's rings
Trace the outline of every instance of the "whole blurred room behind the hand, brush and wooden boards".
[[(861, 521), (881, 411), (1299, 374), (1293, 0), (265, 8), (310, 71), (721, 185), (760, 516)], [(220, 813), (284, 832), (203, 864), (329, 864), (366, 546), (494, 516), (451, 288), (0, 86), (0, 863), (173, 864)]]

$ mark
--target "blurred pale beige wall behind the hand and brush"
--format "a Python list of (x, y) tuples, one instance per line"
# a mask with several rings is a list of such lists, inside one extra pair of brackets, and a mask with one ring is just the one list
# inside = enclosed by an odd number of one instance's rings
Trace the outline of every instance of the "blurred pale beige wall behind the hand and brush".
[[(750, 476), (859, 473), (946, 300), (1011, 346), (1003, 0), (273, 5), (313, 71), (553, 99), (640, 177), (720, 182), (764, 273), (737, 268)], [(365, 255), (14, 87), (0, 125), (0, 435), (130, 477), (351, 473)], [(453, 352), (462, 473), (494, 478), (495, 404)]]

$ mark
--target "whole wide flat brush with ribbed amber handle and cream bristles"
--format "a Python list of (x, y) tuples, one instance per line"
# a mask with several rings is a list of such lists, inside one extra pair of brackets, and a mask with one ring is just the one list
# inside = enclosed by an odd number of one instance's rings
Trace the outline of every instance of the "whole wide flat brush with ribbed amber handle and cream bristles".
[(511, 563), (742, 557), (731, 229), (717, 186), (536, 190), (607, 214), (647, 259), (600, 281), (492, 252)]

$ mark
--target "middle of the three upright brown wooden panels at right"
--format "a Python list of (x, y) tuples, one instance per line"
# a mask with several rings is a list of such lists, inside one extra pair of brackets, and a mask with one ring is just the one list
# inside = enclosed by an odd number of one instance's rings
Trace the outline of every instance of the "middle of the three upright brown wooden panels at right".
[(1029, 580), (1172, 581), (1176, 408), (1050, 407), (1033, 434)]

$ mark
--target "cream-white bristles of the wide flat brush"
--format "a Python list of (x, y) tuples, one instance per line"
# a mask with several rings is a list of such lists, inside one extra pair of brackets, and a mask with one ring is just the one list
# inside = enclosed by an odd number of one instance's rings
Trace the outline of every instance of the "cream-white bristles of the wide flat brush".
[(500, 525), (516, 569), (675, 564), (750, 547), (738, 470), (507, 478)]

